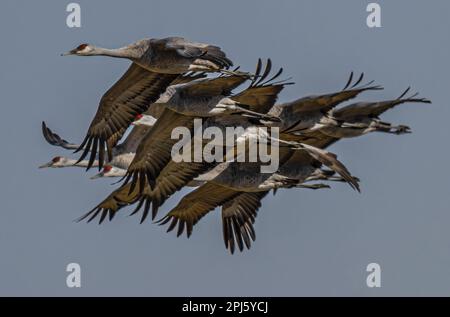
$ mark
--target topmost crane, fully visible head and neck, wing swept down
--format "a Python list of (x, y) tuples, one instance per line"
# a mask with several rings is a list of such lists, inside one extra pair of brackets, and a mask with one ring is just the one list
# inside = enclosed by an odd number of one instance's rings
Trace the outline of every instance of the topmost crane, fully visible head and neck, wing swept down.
[(118, 49), (81, 44), (63, 55), (110, 56), (133, 63), (103, 95), (87, 135), (76, 151), (80, 161), (90, 152), (88, 167), (98, 153), (99, 169), (105, 158), (112, 160), (117, 144), (133, 118), (146, 111), (180, 75), (189, 71), (223, 71), (232, 65), (217, 46), (190, 42), (180, 37), (143, 39)]

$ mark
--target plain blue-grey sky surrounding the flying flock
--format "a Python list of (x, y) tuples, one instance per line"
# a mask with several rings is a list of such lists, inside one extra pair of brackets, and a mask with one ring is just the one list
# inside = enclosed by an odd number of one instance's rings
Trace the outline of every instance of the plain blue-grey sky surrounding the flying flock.
[[(2, 1), (0, 295), (407, 296), (450, 295), (448, 136), (450, 2), (379, 1), (382, 28), (366, 26), (368, 1)], [(280, 101), (341, 89), (350, 71), (395, 98), (409, 85), (432, 105), (403, 105), (383, 118), (413, 134), (372, 134), (337, 143), (362, 193), (282, 190), (268, 196), (250, 251), (231, 256), (220, 213), (176, 238), (124, 210), (102, 226), (75, 223), (113, 190), (82, 169), (39, 170), (58, 154), (40, 132), (80, 142), (124, 60), (61, 57), (84, 42), (120, 47), (143, 37), (184, 36), (218, 44), (253, 70), (270, 57), (296, 82)], [(181, 195), (161, 210), (168, 211)], [(66, 265), (82, 287), (66, 287)], [(382, 287), (366, 286), (367, 264)]]

